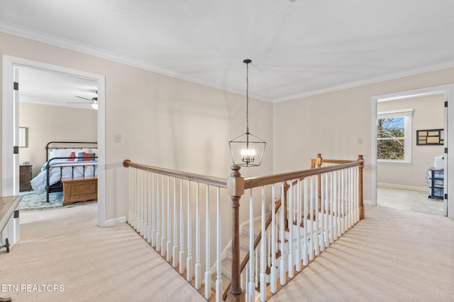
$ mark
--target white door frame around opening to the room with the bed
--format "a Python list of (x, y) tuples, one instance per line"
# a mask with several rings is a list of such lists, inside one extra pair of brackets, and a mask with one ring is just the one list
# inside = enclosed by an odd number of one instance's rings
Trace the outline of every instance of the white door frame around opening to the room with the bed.
[[(87, 71), (70, 69), (53, 64), (36, 62), (20, 57), (3, 55), (2, 70), (2, 195), (9, 196), (14, 194), (13, 178), (13, 112), (18, 110), (13, 104), (13, 70), (15, 66), (42, 69), (45, 71), (67, 74), (69, 76), (79, 76), (91, 79), (98, 83), (98, 225), (106, 226), (106, 78), (99, 74), (92, 74)], [(16, 167), (17, 168), (17, 167)], [(18, 177), (18, 176), (17, 176)]]

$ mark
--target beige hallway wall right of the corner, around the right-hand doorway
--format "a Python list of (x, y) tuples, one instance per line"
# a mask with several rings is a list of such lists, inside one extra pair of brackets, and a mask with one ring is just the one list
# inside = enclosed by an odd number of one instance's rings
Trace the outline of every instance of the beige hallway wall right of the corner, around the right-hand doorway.
[[(454, 82), (454, 68), (276, 103), (275, 173), (309, 167), (309, 158), (364, 155), (364, 199), (371, 201), (372, 96)], [(362, 144), (358, 144), (362, 138)]]

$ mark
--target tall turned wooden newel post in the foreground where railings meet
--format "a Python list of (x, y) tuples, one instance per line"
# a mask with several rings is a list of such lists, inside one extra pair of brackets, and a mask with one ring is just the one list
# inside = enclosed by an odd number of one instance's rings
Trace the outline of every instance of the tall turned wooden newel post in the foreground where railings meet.
[(227, 192), (232, 199), (232, 285), (227, 301), (245, 301), (245, 293), (240, 286), (240, 198), (244, 194), (244, 178), (239, 165), (232, 165), (232, 173), (227, 178)]

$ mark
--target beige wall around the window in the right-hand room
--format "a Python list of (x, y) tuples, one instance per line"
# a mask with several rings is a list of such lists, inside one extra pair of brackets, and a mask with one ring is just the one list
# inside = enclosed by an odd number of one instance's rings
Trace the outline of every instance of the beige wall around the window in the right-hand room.
[(377, 104), (377, 112), (413, 108), (411, 119), (411, 164), (377, 163), (377, 182), (428, 189), (426, 172), (433, 167), (435, 156), (443, 154), (443, 146), (417, 146), (416, 130), (444, 128), (443, 95), (394, 100)]

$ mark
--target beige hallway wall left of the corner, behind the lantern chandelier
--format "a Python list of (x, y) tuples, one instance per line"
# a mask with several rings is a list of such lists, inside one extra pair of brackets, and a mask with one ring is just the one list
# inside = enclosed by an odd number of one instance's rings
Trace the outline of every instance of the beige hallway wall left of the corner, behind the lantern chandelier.
[[(106, 219), (127, 214), (126, 158), (218, 177), (230, 174), (228, 141), (245, 132), (244, 95), (6, 33), (0, 33), (0, 53), (106, 76)], [(245, 177), (271, 174), (272, 104), (250, 100), (250, 130), (267, 141), (267, 151), (262, 166), (242, 172)], [(121, 143), (114, 143), (116, 133)]]

